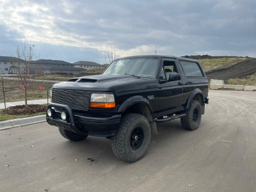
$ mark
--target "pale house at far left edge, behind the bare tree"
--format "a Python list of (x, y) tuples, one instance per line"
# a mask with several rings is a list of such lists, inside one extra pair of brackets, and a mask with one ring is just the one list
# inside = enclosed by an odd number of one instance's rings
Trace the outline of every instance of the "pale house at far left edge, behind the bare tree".
[(24, 60), (20, 60), (15, 57), (0, 56), (0, 74), (15, 74), (15, 70), (13, 70), (13, 63), (15, 65), (17, 61), (20, 61), (20, 66), (22, 67)]

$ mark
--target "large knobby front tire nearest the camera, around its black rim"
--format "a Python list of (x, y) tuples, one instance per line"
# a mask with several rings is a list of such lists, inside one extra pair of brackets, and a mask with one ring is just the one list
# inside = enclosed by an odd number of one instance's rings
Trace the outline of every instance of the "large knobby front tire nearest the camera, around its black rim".
[[(132, 132), (136, 129), (143, 131), (143, 140), (136, 150), (131, 147)], [(116, 157), (135, 162), (140, 160), (147, 152), (151, 140), (151, 130), (147, 118), (136, 113), (128, 113), (122, 117), (120, 127), (112, 137), (111, 147)]]

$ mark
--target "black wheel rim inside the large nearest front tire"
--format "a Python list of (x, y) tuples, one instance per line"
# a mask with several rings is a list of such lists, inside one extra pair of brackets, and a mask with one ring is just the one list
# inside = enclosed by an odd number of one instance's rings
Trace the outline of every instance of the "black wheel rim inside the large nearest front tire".
[(143, 129), (141, 129), (141, 127), (136, 127), (131, 134), (130, 137), (130, 145), (132, 150), (138, 150), (144, 140), (144, 132)]

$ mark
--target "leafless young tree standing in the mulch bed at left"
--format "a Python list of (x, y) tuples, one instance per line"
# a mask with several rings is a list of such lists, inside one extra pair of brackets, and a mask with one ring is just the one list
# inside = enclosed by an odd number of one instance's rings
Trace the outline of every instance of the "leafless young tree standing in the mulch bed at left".
[(26, 108), (28, 108), (27, 92), (36, 81), (32, 76), (29, 76), (29, 72), (36, 72), (32, 63), (32, 61), (36, 60), (34, 49), (34, 44), (31, 44), (31, 42), (26, 44), (26, 42), (22, 41), (21, 47), (17, 46), (16, 49), (17, 58), (12, 61), (12, 73), (17, 74), (14, 77), (14, 81), (21, 90), (24, 90)]

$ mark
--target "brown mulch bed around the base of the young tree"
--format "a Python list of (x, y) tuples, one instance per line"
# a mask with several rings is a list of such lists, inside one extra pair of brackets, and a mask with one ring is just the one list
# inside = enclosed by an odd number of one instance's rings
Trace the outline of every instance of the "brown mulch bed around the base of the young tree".
[(31, 115), (34, 113), (40, 113), (45, 111), (46, 111), (46, 106), (32, 104), (32, 105), (28, 105), (28, 108), (26, 108), (25, 105), (9, 107), (4, 109), (2, 113), (6, 115)]

